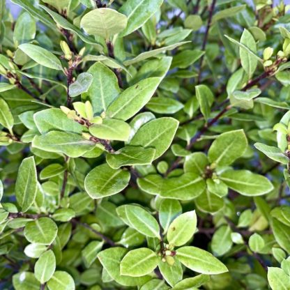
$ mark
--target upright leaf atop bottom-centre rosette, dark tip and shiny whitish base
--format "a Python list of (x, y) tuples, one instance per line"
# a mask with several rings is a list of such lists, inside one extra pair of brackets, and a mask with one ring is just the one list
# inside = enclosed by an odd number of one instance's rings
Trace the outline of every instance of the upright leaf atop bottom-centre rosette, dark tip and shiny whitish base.
[(164, 233), (167, 233), (169, 224), (175, 217), (182, 213), (182, 207), (178, 200), (162, 199), (158, 211), (158, 217)]

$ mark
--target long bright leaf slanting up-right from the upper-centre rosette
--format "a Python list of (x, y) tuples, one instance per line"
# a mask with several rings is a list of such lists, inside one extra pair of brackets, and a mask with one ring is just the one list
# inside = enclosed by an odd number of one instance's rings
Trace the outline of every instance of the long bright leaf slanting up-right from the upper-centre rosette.
[(109, 105), (106, 112), (107, 116), (124, 121), (130, 119), (151, 99), (160, 81), (160, 77), (149, 77), (125, 89)]

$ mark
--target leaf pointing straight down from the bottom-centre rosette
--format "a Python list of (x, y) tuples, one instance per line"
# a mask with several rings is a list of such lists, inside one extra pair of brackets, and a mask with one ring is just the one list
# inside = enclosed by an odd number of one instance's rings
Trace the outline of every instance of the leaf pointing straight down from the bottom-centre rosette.
[[(165, 257), (165, 259), (168, 258)], [(183, 277), (183, 268), (181, 266), (181, 262), (178, 259), (174, 259), (173, 261), (174, 264), (169, 265), (167, 261), (162, 261), (160, 259), (158, 264), (158, 268), (160, 270), (160, 273), (162, 274), (162, 277), (171, 287), (174, 287), (174, 285), (181, 281)]]

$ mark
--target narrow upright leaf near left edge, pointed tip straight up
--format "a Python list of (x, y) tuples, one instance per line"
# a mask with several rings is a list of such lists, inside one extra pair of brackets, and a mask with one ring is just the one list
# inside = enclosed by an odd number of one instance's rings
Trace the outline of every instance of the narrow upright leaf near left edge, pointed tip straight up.
[(26, 212), (32, 206), (37, 192), (36, 164), (33, 156), (25, 158), (19, 167), (15, 183), (15, 197), (21, 206), (22, 212)]

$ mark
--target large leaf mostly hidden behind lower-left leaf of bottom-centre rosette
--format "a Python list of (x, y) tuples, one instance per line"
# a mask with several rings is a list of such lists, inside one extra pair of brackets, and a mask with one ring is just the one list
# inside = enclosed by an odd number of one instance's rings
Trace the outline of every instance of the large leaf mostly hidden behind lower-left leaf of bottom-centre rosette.
[(100, 264), (107, 270), (107, 273), (119, 284), (123, 286), (136, 286), (142, 285), (148, 280), (151, 280), (150, 276), (143, 277), (129, 277), (121, 275), (120, 264), (121, 260), (125, 256), (127, 250), (123, 247), (111, 247), (107, 250), (103, 250), (98, 254)]

